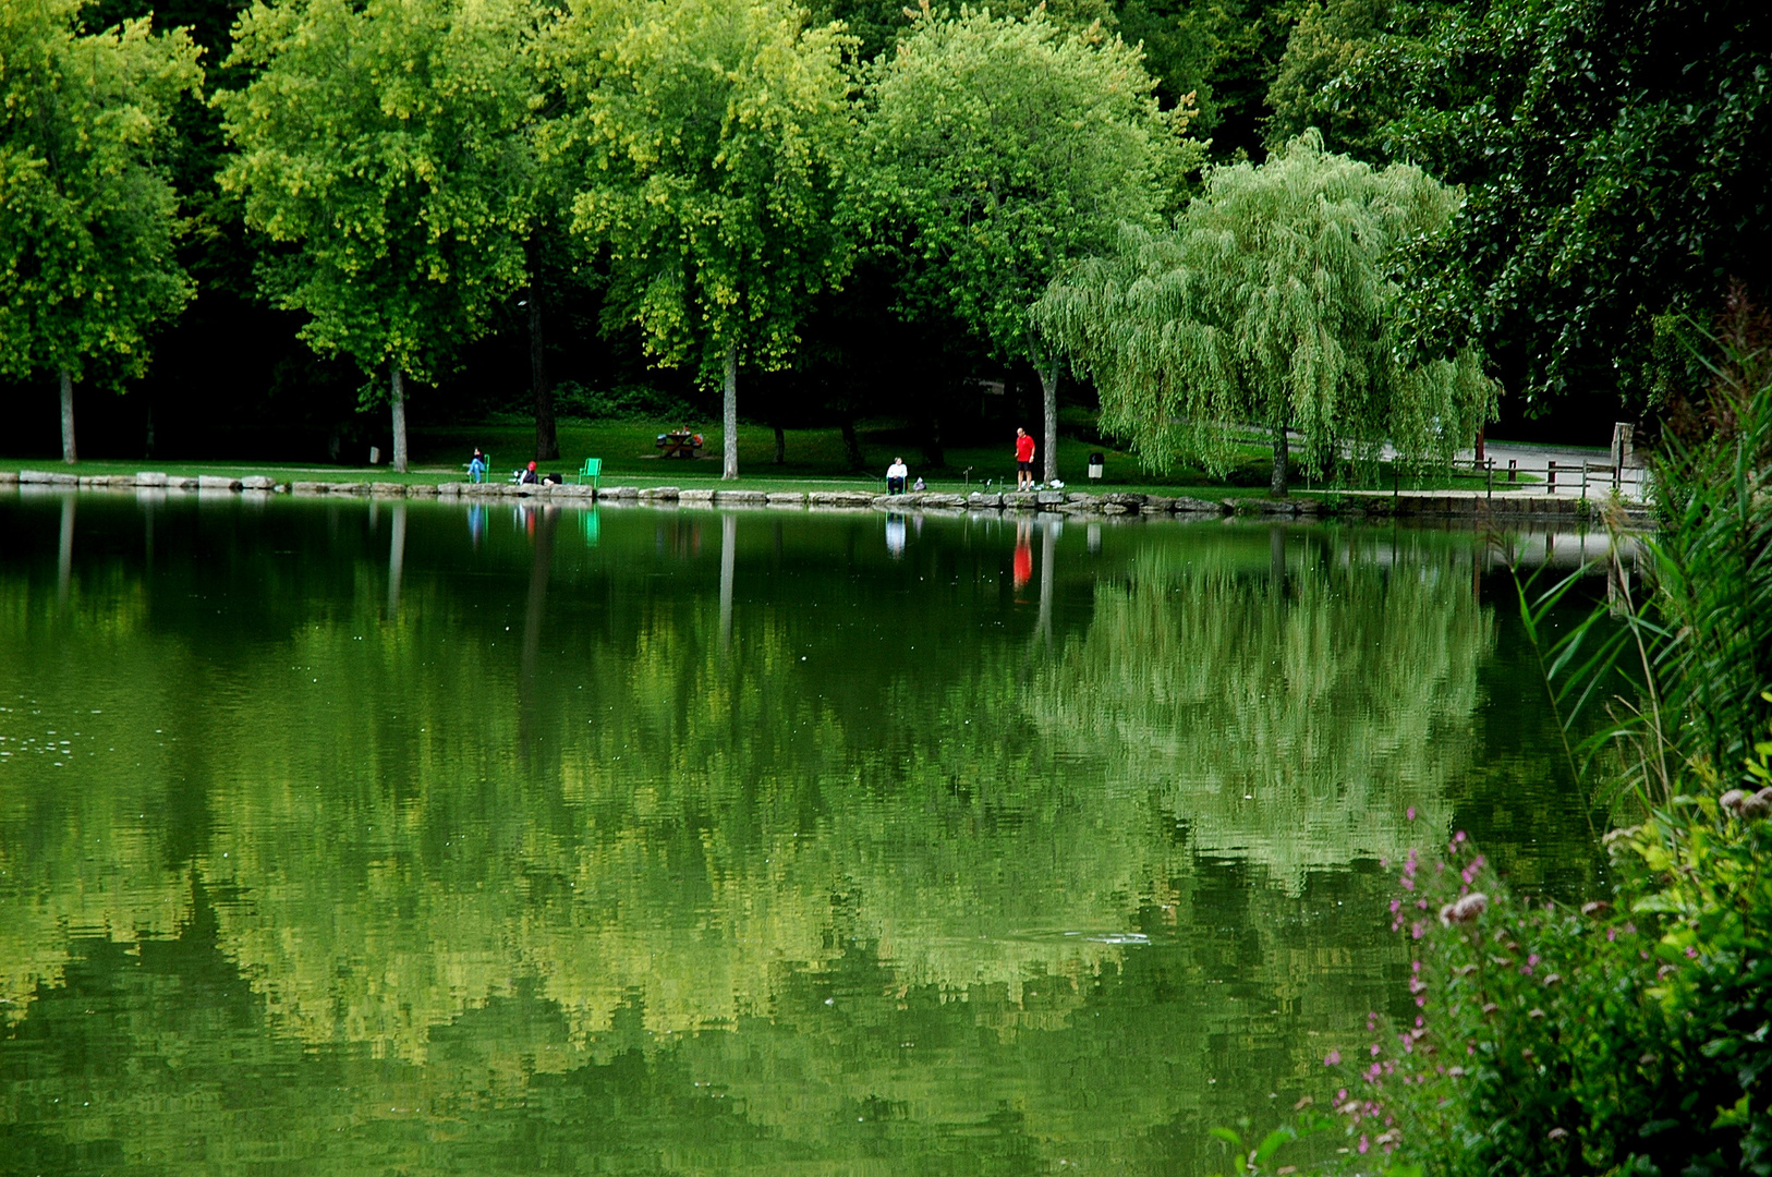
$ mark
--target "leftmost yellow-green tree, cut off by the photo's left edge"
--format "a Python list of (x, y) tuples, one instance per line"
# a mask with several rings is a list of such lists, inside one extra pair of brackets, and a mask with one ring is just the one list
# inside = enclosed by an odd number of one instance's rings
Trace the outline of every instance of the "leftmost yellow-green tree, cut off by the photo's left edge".
[(170, 110), (202, 82), (184, 32), (82, 34), (80, 0), (0, 4), (0, 376), (140, 376), (191, 284), (174, 253)]

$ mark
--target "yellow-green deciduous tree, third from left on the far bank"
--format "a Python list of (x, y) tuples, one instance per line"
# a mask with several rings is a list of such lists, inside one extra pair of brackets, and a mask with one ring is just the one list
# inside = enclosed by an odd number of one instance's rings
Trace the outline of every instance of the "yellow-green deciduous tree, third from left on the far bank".
[(578, 0), (544, 44), (558, 113), (542, 144), (572, 165), (571, 227), (606, 278), (606, 324), (719, 381), (727, 479), (739, 363), (785, 365), (847, 268), (847, 44), (787, 0)]

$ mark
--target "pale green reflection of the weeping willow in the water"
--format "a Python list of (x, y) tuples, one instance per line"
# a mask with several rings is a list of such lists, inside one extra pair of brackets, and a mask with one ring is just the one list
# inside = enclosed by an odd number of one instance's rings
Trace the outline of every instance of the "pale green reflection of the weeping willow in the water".
[(1146, 550), (1097, 587), (1088, 633), (1037, 672), (1028, 713), (1164, 798), (1196, 847), (1292, 886), (1398, 854), (1421, 838), (1407, 807), (1430, 830), (1449, 819), (1494, 626), (1467, 558), (1370, 555), (1313, 548), (1276, 578), (1239, 571), (1230, 544)]

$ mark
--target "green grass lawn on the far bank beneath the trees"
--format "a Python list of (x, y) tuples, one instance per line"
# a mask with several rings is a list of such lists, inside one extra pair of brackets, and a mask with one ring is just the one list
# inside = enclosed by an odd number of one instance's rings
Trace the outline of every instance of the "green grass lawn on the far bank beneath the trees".
[[(702, 457), (663, 459), (654, 438), (657, 422), (560, 422), (560, 459), (544, 463), (544, 472), (572, 473), (587, 457), (602, 459), (602, 484), (626, 486), (712, 486), (719, 482), (721, 431), (703, 427)], [(787, 461), (774, 464), (774, 433), (764, 425), (746, 425), (739, 433), (741, 486), (746, 489), (884, 489), (886, 464), (902, 456), (911, 466), (911, 477), (923, 475), (932, 491), (1003, 489), (1015, 484), (1015, 463), (1008, 438), (1001, 445), (953, 445), (946, 448), (946, 464), (937, 470), (921, 466), (921, 450), (907, 440), (907, 431), (891, 427), (863, 427), (858, 434), (867, 470), (849, 470), (843, 438), (838, 429), (790, 429), (787, 433)], [(156, 459), (101, 459), (82, 461), (69, 468), (46, 459), (4, 459), (0, 470), (60, 470), (82, 475), (135, 473), (163, 470), (174, 477), (197, 475), (269, 475), (280, 482), (314, 479), (323, 482), (377, 479), (386, 482), (459, 482), (473, 447), (478, 445), (493, 459), (493, 479), (503, 480), (514, 468), (525, 464), (535, 447), (535, 429), (526, 422), (494, 422), (482, 425), (443, 425), (416, 429), (411, 436), (411, 472), (393, 473), (383, 466), (337, 464), (276, 464), (253, 461), (156, 461)], [(1237, 447), (1240, 457), (1230, 479), (1212, 479), (1198, 468), (1177, 468), (1168, 473), (1150, 473), (1138, 457), (1108, 445), (1063, 438), (1058, 447), (1058, 477), (1070, 489), (1092, 491), (1152, 491), (1164, 495), (1193, 495), (1196, 498), (1244, 498), (1267, 493), (1269, 448), (1258, 440)], [(1106, 479), (1090, 482), (1086, 463), (1090, 454), (1106, 459)], [(1522, 482), (1535, 482), (1522, 475)], [(1380, 484), (1389, 489), (1389, 479)], [(1462, 489), (1481, 491), (1481, 475), (1435, 475), (1428, 479), (1407, 475), (1403, 489)], [(1504, 489), (1497, 480), (1496, 489)], [(1515, 484), (1519, 486), (1519, 484)], [(1294, 482), (1295, 495), (1334, 493), (1333, 487)]]

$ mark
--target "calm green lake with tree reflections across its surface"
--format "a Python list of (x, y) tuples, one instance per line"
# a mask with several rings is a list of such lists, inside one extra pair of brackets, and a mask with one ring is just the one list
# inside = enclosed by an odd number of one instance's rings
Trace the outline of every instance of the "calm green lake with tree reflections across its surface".
[(1391, 526), (9, 493), (0, 1173), (1210, 1172), (1412, 1014), (1380, 860), (1598, 870), (1513, 592)]

